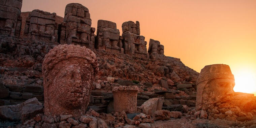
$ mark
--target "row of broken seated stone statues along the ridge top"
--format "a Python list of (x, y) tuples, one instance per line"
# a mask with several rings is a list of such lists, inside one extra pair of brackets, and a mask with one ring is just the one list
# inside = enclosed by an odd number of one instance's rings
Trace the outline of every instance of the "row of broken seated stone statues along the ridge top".
[(22, 0), (3, 0), (0, 6), (0, 33), (3, 34), (15, 34), (53, 44), (79, 44), (89, 49), (104, 49), (107, 52), (128, 54), (141, 59), (164, 57), (163, 45), (158, 43), (157, 53), (151, 52), (155, 51), (155, 45), (150, 45), (147, 52), (147, 41), (140, 35), (138, 21), (124, 22), (120, 36), (116, 23), (99, 20), (95, 35), (95, 28), (91, 27), (89, 9), (79, 3), (67, 4), (62, 22), (56, 13), (42, 10), (33, 10), (20, 17)]

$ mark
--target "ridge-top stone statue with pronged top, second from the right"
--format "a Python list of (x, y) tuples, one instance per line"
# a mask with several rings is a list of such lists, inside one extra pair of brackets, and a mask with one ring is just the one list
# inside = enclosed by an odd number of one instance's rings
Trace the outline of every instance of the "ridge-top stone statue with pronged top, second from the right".
[(149, 54), (147, 53), (147, 42), (145, 41), (145, 37), (139, 35), (139, 22), (124, 22), (122, 24), (122, 31), (124, 53), (131, 56), (135, 56), (137, 58), (149, 58)]

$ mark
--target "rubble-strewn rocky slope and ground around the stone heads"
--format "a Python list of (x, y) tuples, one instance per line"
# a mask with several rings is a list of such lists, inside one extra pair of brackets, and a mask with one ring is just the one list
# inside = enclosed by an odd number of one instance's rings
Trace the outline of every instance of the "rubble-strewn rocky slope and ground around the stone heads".
[[(17, 104), (19, 106), (34, 97), (43, 104), (42, 62), (45, 54), (56, 44), (7, 35), (0, 35), (0, 40), (0, 106), (17, 106)], [(0, 125), (7, 127), (19, 124), (17, 127), (36, 128), (79, 128), (85, 126), (121, 128), (256, 127), (254, 119), (238, 122), (224, 119), (199, 119), (194, 116), (195, 81), (199, 73), (185, 66), (178, 58), (137, 59), (126, 54), (112, 54), (95, 49), (93, 51), (98, 59), (99, 73), (93, 84), (94, 88), (86, 115), (76, 119), (72, 115), (47, 117), (38, 114), (34, 115), (35, 118), (22, 122), (1, 120)], [(111, 90), (121, 85), (136, 85), (139, 88), (137, 95), (139, 113), (142, 112), (140, 106), (143, 103), (157, 97), (164, 97), (163, 110), (152, 116), (130, 115), (125, 112), (114, 113)], [(42, 106), (40, 110), (41, 108)], [(23, 109), (23, 111), (20, 109), (20, 111), (25, 114), (23, 117), (26, 119), (30, 117), (26, 116), (28, 109)], [(0, 112), (0, 115), (3, 117), (3, 113)]]

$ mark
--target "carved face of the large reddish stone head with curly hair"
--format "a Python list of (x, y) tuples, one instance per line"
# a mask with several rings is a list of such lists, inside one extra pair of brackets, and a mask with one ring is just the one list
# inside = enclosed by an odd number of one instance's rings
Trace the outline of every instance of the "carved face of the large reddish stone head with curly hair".
[(90, 90), (90, 81), (93, 79), (93, 75), (85, 73), (93, 72), (92, 66), (87, 66), (89, 67), (72, 61), (64, 61), (55, 66), (62, 67), (52, 84), (55, 85), (53, 90), (59, 105), (66, 108), (80, 108), (85, 104), (89, 96), (87, 91)]

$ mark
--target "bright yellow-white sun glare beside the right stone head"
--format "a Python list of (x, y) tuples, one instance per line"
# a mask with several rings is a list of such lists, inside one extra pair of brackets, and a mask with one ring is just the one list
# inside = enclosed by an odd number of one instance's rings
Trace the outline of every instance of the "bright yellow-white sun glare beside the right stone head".
[(235, 92), (254, 93), (256, 96), (256, 72), (250, 69), (241, 69), (234, 72)]

